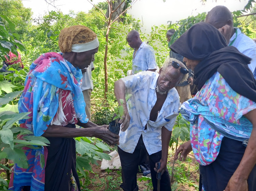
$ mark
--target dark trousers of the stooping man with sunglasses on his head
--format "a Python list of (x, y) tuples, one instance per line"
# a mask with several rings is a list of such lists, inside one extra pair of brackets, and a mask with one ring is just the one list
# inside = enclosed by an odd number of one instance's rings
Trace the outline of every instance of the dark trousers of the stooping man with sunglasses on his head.
[[(122, 166), (122, 180), (123, 180), (123, 183), (120, 185), (120, 187), (124, 191), (139, 190), (137, 185), (137, 171), (138, 171), (140, 160), (143, 157), (141, 156), (141, 153), (143, 152), (147, 153), (146, 147), (142, 140), (142, 136), (140, 137), (138, 144), (133, 153), (127, 153), (118, 147), (118, 154), (119, 154), (121, 166)], [(151, 178), (152, 178), (152, 183), (154, 187), (153, 191), (157, 190), (157, 179), (156, 179), (157, 173), (155, 172), (154, 167), (156, 163), (160, 161), (161, 154), (162, 154), (162, 151), (149, 155)], [(167, 169), (161, 176), (160, 190), (171, 191), (171, 180), (170, 180), (170, 176)]]

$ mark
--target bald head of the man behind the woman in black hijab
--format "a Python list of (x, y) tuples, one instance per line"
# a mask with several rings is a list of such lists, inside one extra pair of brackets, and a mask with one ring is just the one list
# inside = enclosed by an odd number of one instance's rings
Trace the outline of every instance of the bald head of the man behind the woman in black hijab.
[(222, 28), (226, 24), (232, 29), (234, 28), (231, 12), (227, 7), (221, 5), (213, 7), (212, 10), (208, 12), (205, 17), (205, 22), (210, 23), (217, 29)]

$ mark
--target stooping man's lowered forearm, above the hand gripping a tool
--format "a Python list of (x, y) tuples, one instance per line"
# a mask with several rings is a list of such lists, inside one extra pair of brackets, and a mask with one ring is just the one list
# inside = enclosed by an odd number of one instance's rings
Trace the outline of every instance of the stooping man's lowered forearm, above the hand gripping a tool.
[(162, 157), (161, 158), (164, 161), (167, 161), (171, 135), (172, 135), (172, 132), (169, 131), (167, 128), (165, 128), (165, 126), (163, 126), (161, 130), (161, 138), (162, 138)]

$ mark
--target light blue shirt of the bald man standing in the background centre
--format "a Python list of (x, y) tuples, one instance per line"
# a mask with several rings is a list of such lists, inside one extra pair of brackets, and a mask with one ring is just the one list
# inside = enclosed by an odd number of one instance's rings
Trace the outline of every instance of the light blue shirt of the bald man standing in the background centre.
[(157, 69), (154, 49), (145, 42), (142, 42), (137, 52), (135, 50), (133, 52), (132, 74), (136, 74), (140, 70), (146, 71), (152, 69)]

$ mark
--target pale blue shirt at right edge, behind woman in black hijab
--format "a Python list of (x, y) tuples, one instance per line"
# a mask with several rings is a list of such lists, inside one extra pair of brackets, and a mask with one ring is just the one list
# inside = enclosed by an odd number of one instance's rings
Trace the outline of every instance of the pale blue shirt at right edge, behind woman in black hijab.
[(237, 30), (237, 34), (233, 34), (233, 36), (229, 40), (228, 45), (230, 45), (231, 42), (235, 39), (232, 46), (236, 47), (239, 52), (243, 53), (244, 55), (252, 58), (251, 64), (248, 64), (248, 67), (254, 73), (256, 68), (256, 44), (251, 38), (243, 34), (240, 29), (235, 29)]

